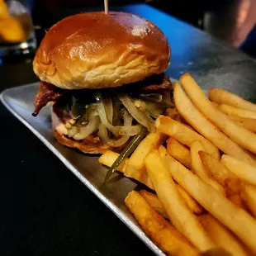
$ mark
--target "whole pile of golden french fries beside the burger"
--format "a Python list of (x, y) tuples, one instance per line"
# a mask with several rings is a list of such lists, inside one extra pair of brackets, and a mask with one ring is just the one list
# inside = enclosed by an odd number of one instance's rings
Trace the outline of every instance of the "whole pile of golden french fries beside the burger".
[(207, 97), (188, 73), (179, 82), (175, 108), (118, 168), (150, 188), (126, 206), (168, 255), (256, 255), (256, 104), (220, 88)]

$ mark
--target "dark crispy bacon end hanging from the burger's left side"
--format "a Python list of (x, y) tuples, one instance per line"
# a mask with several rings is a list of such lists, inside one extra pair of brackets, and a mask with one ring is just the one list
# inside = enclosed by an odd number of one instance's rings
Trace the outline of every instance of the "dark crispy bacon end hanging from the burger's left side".
[(51, 83), (40, 82), (39, 91), (34, 99), (35, 111), (32, 116), (37, 116), (42, 107), (45, 107), (48, 102), (56, 101), (64, 93), (65, 90), (57, 88)]

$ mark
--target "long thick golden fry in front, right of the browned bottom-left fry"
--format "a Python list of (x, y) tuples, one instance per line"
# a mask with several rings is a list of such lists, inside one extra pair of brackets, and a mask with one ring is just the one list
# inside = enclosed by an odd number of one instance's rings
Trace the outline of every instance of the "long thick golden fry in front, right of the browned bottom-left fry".
[(146, 156), (145, 165), (159, 200), (162, 202), (174, 227), (200, 251), (214, 248), (215, 244), (206, 235), (197, 217), (192, 214), (192, 211), (178, 193), (175, 183), (169, 175), (168, 168), (164, 165), (157, 150)]

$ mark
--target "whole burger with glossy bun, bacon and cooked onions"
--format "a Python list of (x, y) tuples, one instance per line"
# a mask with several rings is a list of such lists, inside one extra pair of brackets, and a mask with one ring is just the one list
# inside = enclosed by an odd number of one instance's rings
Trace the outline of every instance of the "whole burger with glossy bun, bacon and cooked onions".
[(152, 22), (124, 12), (87, 12), (46, 31), (33, 69), (40, 78), (37, 116), (53, 102), (59, 143), (88, 154), (120, 152), (172, 106), (163, 72), (170, 48)]

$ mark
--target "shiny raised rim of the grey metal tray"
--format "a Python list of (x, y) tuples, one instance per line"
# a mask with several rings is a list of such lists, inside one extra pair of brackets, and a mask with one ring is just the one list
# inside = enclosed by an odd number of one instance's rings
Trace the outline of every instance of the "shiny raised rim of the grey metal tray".
[(53, 145), (51, 145), (50, 142), (48, 140), (46, 140), (43, 135), (40, 135), (39, 131), (37, 131), (33, 126), (31, 126), (31, 124), (29, 124), (29, 122), (27, 122), (21, 115), (19, 115), (17, 113), (17, 111), (12, 109), (12, 107), (10, 107), (8, 105), (7, 101), (4, 98), (5, 95), (7, 94), (7, 92), (15, 91), (20, 88), (33, 87), (38, 84), (39, 84), (39, 82), (27, 83), (27, 84), (23, 84), (23, 85), (20, 85), (17, 87), (13, 87), (13, 88), (7, 88), (0, 93), (0, 102), (2, 102), (2, 105), (7, 108), (7, 111), (10, 111), (12, 113), (12, 115), (17, 118), (17, 120), (21, 121), (21, 123), (24, 126), (26, 126), (29, 130), (31, 130), (31, 132), (34, 135), (36, 135), (36, 137), (46, 146), (46, 148), (50, 149), (50, 151), (53, 154), (55, 154), (55, 156), (65, 165), (65, 167), (68, 168), (69, 171), (71, 171), (79, 179), (80, 182), (82, 182), (86, 187), (88, 187), (88, 189), (100, 201), (102, 201), (102, 203), (105, 206), (107, 206), (107, 208), (110, 209), (117, 216), (117, 218), (119, 220), (121, 220), (149, 249), (151, 249), (151, 251), (155, 255), (166, 256), (166, 254), (164, 254), (163, 251), (161, 249), (159, 249), (159, 247), (156, 244), (154, 244), (153, 241), (151, 239), (149, 239), (149, 237), (147, 235), (145, 235), (145, 232), (140, 228), (139, 225), (135, 225), (135, 223), (132, 220), (130, 220), (126, 215), (124, 215), (120, 211), (120, 209), (117, 206), (115, 206), (114, 203), (112, 203), (110, 200), (108, 200), (107, 197), (105, 197), (102, 194), (102, 192), (97, 190), (97, 188), (94, 187), (92, 185), (92, 183), (90, 183), (88, 181), (88, 179), (83, 176), (83, 174), (79, 173), (78, 169), (76, 169), (73, 166), (73, 164), (71, 162), (69, 162), (68, 159), (65, 159), (64, 156), (57, 149), (55, 149), (55, 147)]

